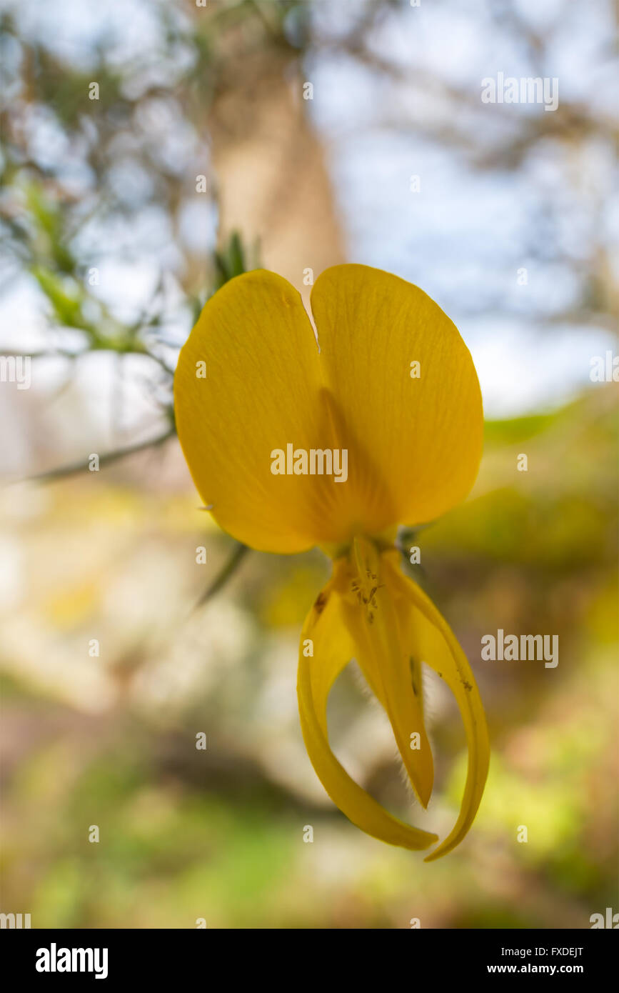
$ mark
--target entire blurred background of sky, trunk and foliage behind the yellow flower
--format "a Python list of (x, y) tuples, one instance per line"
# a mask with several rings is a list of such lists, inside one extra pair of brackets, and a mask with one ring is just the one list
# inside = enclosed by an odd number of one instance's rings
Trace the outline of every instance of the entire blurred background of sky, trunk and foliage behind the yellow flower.
[[(0, 383), (0, 909), (329, 928), (619, 909), (617, 384), (590, 378), (617, 351), (613, 5), (5, 0), (2, 26), (0, 352), (32, 355), (32, 385)], [(557, 110), (482, 103), (498, 71), (557, 77)], [(258, 264), (307, 294), (345, 260), (430, 293), (484, 395), (473, 493), (403, 535), (493, 747), (473, 829), (430, 865), (354, 828), (310, 768), (297, 649), (327, 562), (243, 554), (174, 432), (208, 295)], [(481, 660), (499, 628), (558, 635), (557, 668)], [(464, 740), (427, 691), (424, 820), (353, 665), (329, 722), (352, 775), (444, 835)]]

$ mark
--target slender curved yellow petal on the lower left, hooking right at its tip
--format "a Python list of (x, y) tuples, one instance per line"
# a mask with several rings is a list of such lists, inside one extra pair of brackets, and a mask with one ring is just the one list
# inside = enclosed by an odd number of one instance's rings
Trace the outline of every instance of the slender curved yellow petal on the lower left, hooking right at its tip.
[[(392, 845), (413, 850), (428, 848), (437, 840), (436, 835), (411, 827), (387, 813), (348, 776), (329, 747), (326, 700), (333, 681), (353, 650), (342, 624), (336, 582), (331, 581), (316, 600), (301, 636), (297, 688), (309, 760), (333, 802), (361, 830)], [(313, 656), (304, 654), (308, 639), (312, 641)]]

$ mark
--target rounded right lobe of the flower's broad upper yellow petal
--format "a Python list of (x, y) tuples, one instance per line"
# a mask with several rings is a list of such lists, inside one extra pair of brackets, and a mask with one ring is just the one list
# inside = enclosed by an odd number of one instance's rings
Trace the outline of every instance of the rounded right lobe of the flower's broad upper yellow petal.
[(364, 265), (322, 272), (311, 310), (332, 420), (349, 449), (354, 533), (422, 523), (466, 497), (483, 415), (475, 367), (452, 322), (417, 286)]

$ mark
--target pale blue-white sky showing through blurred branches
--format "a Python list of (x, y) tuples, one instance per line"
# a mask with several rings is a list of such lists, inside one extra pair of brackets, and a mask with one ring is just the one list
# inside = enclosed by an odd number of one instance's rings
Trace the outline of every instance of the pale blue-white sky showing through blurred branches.
[[(111, 62), (140, 60), (144, 77), (159, 72), (169, 83), (188, 65), (183, 52), (169, 65), (156, 58), (162, 30), (157, 4), (50, 0), (8, 6), (25, 37), (48, 39), (57, 54), (84, 70), (101, 41)], [(308, 111), (326, 149), (349, 261), (395, 272), (445, 310), (473, 355), (487, 417), (552, 409), (581, 389), (594, 388), (591, 359), (607, 350), (616, 353), (616, 339), (602, 322), (579, 327), (560, 320), (560, 314), (579, 296), (578, 266), (596, 240), (607, 246), (618, 274), (619, 196), (612, 148), (592, 140), (572, 157), (549, 140), (538, 142), (516, 170), (481, 170), (479, 153), (496, 155), (523, 115), (546, 113), (540, 105), (513, 105), (497, 115), (495, 106), (481, 103), (484, 77), (533, 71), (509, 28), (497, 27), (488, 3), (423, 0), (412, 7), (404, 0), (370, 40), (377, 59), (390, 60), (402, 71), (402, 78), (393, 80), (338, 51), (338, 39), (362, 6), (357, 0), (313, 3), (312, 26), (321, 43), (309, 51), (304, 66), (313, 85)], [(519, 0), (518, 8), (532, 27), (553, 39), (539, 71), (557, 77), (559, 101), (577, 99), (599, 114), (611, 114), (617, 70), (607, 56), (610, 4)], [(133, 84), (139, 87), (140, 80), (136, 72)], [(466, 96), (457, 119), (443, 85)], [(193, 168), (194, 138), (176, 121), (174, 104), (155, 110), (156, 124), (166, 133), (162, 155), (180, 168)], [(77, 187), (87, 186), (89, 178), (80, 174), (53, 122), (38, 114), (29, 126), (42, 160), (65, 161)], [(441, 140), (445, 126), (464, 135), (463, 145)], [(418, 177), (416, 192), (413, 176)], [(121, 189), (133, 189), (134, 199), (139, 196), (143, 177), (125, 166), (117, 179)], [(203, 244), (214, 246), (216, 213), (205, 207), (199, 216), (187, 215), (181, 231), (189, 243), (197, 232)], [(174, 291), (179, 252), (165, 212), (145, 206), (125, 229), (92, 224), (84, 237), (86, 254), (105, 273), (98, 292), (123, 319), (148, 308), (162, 269), (169, 271), (170, 328), (181, 344), (187, 315)], [(11, 281), (2, 300), (5, 347), (41, 345), (46, 329), (42, 303), (28, 277)], [(35, 385), (44, 392), (55, 389), (63, 375), (62, 362), (42, 363)], [(92, 356), (80, 363), (74, 387), (89, 405), (89, 430), (94, 421), (101, 431), (109, 429), (110, 437), (107, 407), (114, 375), (112, 361)], [(122, 389), (130, 438), (136, 428), (150, 430), (154, 411), (130, 376)]]

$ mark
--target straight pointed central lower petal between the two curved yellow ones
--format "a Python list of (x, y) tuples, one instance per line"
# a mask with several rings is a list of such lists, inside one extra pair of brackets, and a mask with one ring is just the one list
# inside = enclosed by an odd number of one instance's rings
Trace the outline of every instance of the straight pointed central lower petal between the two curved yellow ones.
[(338, 580), (342, 616), (355, 657), (389, 717), (405, 769), (426, 807), (433, 788), (433, 755), (421, 685), (414, 685), (411, 657), (401, 641), (390, 576), (376, 546), (363, 538), (355, 538), (348, 563), (337, 566), (338, 576), (344, 577)]

